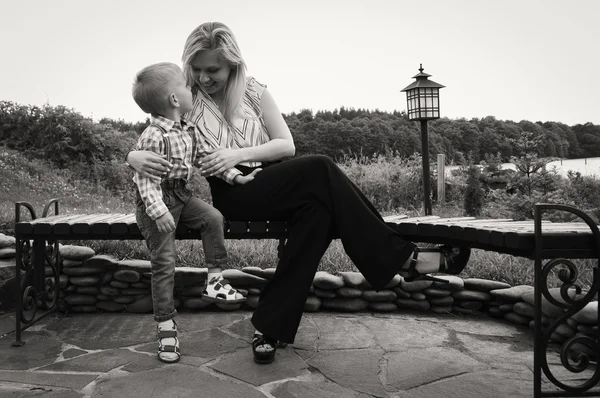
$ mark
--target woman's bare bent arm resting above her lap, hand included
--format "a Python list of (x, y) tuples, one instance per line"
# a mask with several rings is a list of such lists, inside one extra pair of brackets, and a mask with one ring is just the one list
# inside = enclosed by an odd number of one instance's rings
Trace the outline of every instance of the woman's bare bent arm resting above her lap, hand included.
[(203, 175), (215, 175), (242, 162), (268, 162), (294, 156), (296, 147), (294, 146), (292, 133), (285, 120), (283, 120), (273, 96), (267, 89), (263, 91), (260, 106), (269, 133), (269, 142), (240, 149), (217, 149), (202, 159), (203, 166), (201, 170)]

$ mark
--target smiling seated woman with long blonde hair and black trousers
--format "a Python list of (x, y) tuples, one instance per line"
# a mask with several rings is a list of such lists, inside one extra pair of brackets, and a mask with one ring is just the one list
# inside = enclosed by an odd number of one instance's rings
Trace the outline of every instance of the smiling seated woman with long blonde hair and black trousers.
[[(201, 168), (214, 206), (229, 220), (289, 224), (277, 270), (252, 317), (256, 362), (272, 362), (277, 341), (294, 342), (317, 266), (334, 238), (341, 239), (377, 290), (397, 273), (416, 279), (429, 272), (457, 274), (464, 268), (468, 249), (418, 250), (385, 224), (328, 157), (280, 161), (295, 153), (292, 135), (266, 86), (246, 77), (246, 65), (227, 26), (209, 22), (196, 28), (185, 43), (182, 61), (194, 94), (194, 109), (186, 117), (217, 148)], [(169, 167), (146, 152), (130, 152), (127, 160), (147, 175), (162, 175)], [(262, 171), (246, 185), (229, 185), (215, 177), (234, 166), (245, 174)]]

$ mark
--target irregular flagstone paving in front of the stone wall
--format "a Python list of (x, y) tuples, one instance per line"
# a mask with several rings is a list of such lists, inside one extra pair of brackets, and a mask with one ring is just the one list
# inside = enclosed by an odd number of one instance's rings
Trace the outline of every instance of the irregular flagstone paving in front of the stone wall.
[[(271, 365), (252, 361), (250, 313), (183, 313), (183, 357), (156, 358), (151, 315), (50, 315), (12, 347), (0, 316), (4, 397), (531, 397), (533, 333), (492, 318), (306, 314)], [(558, 363), (556, 354), (550, 362)], [(573, 379), (558, 370), (565, 380)], [(586, 374), (589, 376), (589, 374)], [(581, 376), (580, 376), (581, 377)]]

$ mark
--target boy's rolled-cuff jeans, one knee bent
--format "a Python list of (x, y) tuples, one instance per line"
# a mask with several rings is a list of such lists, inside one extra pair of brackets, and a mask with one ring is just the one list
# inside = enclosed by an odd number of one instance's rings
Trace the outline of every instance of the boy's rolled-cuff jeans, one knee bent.
[[(224, 218), (220, 211), (192, 195), (185, 180), (167, 180), (161, 183), (163, 201), (173, 215), (175, 225), (181, 224), (200, 230), (207, 267), (217, 267), (227, 261), (225, 250)], [(173, 299), (175, 287), (175, 231), (160, 233), (156, 221), (146, 214), (146, 206), (137, 195), (136, 219), (152, 264), (152, 304), (154, 320), (163, 322), (177, 315)]]

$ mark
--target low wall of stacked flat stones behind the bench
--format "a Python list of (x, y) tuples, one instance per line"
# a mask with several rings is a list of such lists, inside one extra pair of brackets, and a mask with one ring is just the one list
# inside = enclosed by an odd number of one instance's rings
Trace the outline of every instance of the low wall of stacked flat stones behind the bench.
[[(152, 313), (149, 261), (118, 260), (107, 255), (96, 255), (85, 246), (61, 246), (60, 253), (60, 311)], [(51, 275), (50, 267), (48, 271)], [(274, 272), (274, 268), (258, 267), (224, 270), (224, 277), (247, 297), (247, 302), (212, 304), (202, 300), (206, 268), (178, 267), (175, 274), (176, 307), (179, 311), (252, 311), (258, 304), (262, 287)], [(533, 287), (511, 287), (503, 282), (484, 279), (440, 277), (449, 283), (406, 282), (397, 275), (385, 289), (375, 291), (358, 272), (332, 275), (320, 271), (315, 276), (304, 309), (307, 312), (413, 310), (487, 315), (534, 327)], [(560, 300), (559, 289), (550, 290)], [(547, 301), (542, 307), (544, 325), (550, 324), (565, 311)], [(561, 343), (576, 333), (594, 337), (598, 327), (597, 313), (597, 302), (589, 303), (561, 325), (551, 336), (551, 341)]]

